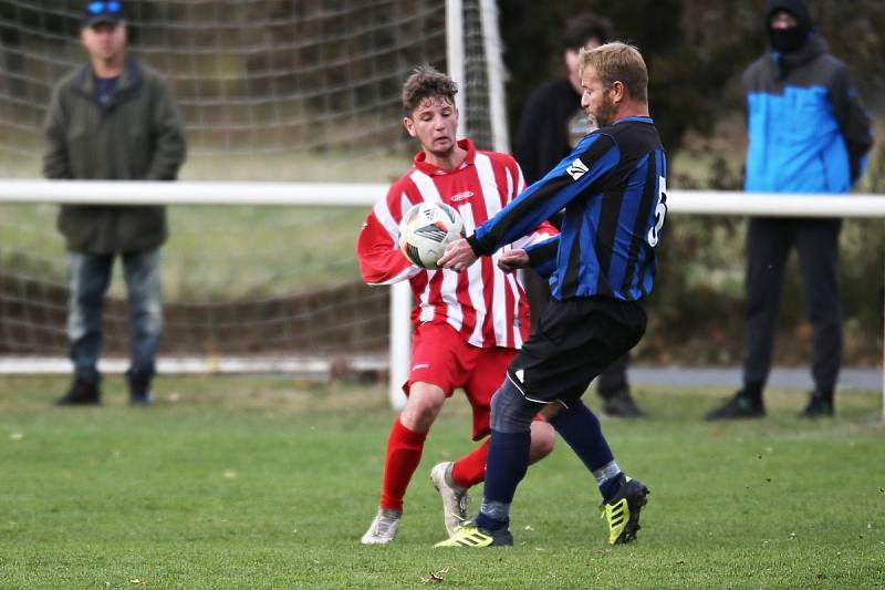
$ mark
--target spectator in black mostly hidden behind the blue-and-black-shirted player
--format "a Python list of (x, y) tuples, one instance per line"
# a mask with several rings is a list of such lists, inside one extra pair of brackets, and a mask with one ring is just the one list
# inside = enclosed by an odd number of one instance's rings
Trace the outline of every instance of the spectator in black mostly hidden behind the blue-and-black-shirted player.
[[(583, 48), (593, 49), (608, 42), (610, 31), (608, 21), (591, 12), (581, 13), (565, 23), (565, 76), (542, 84), (532, 92), (520, 118), (513, 155), (522, 168), (525, 184), (539, 180), (595, 128), (595, 123), (581, 107), (577, 54)], [(559, 227), (560, 214), (551, 218), (551, 222)], [(532, 269), (525, 269), (524, 281), (534, 329), (550, 298), (550, 287)], [(631, 395), (628, 365), (629, 355), (626, 354), (596, 379), (596, 391), (603, 402), (602, 412), (606, 416), (645, 415)]]

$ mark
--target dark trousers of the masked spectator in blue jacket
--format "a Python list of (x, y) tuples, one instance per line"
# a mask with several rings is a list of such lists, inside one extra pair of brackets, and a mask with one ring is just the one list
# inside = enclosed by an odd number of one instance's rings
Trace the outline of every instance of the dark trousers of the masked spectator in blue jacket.
[(840, 219), (752, 218), (747, 230), (747, 358), (743, 384), (761, 390), (771, 369), (783, 269), (799, 251), (814, 328), (815, 391), (831, 395), (842, 360), (842, 312), (836, 286)]

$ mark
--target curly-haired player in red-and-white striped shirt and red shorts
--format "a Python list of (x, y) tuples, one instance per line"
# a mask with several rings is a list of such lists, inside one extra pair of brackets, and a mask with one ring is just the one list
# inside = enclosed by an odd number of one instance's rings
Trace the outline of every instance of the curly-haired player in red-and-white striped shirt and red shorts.
[[(403, 498), (427, 433), (456, 389), (465, 390), (472, 407), (473, 441), (487, 437), (491, 397), (531, 328), (521, 281), (499, 269), (494, 257), (467, 272), (434, 271), (414, 266), (398, 248), (399, 221), (416, 203), (441, 201), (455, 207), (470, 234), (524, 188), (522, 172), (511, 156), (478, 151), (470, 139), (456, 139), (456, 93), (455, 82), (429, 66), (418, 68), (406, 81), (403, 124), (421, 151), (412, 170), (375, 205), (356, 244), (367, 283), (408, 280), (417, 301), (412, 314), (412, 366), (403, 386), (408, 400), (387, 438), (381, 501), (362, 538), (365, 545), (388, 544), (396, 536)], [(555, 234), (544, 222), (513, 247), (541, 242)], [(532, 424), (531, 432), (531, 458), (538, 460), (552, 451), (554, 434), (541, 421)], [(487, 453), (488, 441), (431, 472), (449, 532), (467, 515), (467, 489), (485, 478)]]

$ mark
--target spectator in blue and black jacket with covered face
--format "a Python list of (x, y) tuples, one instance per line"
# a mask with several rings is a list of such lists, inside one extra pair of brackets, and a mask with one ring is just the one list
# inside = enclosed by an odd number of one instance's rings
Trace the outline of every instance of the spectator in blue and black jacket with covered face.
[[(745, 188), (764, 193), (848, 193), (873, 144), (870, 116), (845, 64), (814, 31), (802, 0), (770, 0), (771, 50), (743, 74), (749, 147)], [(801, 417), (833, 415), (841, 364), (836, 287), (840, 219), (753, 218), (747, 231), (747, 356), (743, 387), (708, 420), (763, 416), (783, 270), (799, 251), (814, 327), (814, 390)]]

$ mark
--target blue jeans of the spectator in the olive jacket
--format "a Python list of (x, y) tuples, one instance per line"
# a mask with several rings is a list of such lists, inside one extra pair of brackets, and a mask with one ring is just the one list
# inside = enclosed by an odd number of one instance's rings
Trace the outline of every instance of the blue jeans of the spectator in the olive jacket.
[[(69, 252), (71, 299), (67, 338), (77, 379), (98, 383), (102, 350), (104, 297), (111, 283), (115, 255)], [(127, 375), (154, 376), (154, 356), (163, 332), (159, 282), (159, 248), (147, 252), (124, 252), (123, 276), (129, 302), (132, 359)]]

